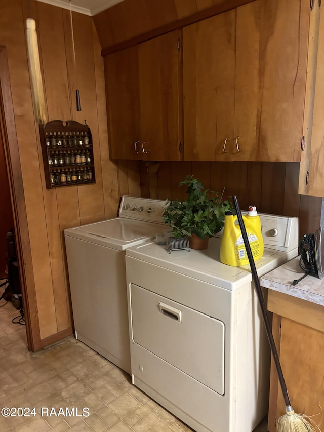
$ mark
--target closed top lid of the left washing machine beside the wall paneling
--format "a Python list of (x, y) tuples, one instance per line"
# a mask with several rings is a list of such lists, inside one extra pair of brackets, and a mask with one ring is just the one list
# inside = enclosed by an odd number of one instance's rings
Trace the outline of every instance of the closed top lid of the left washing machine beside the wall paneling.
[(161, 230), (163, 230), (163, 226), (158, 223), (118, 217), (65, 229), (64, 235), (113, 249), (124, 250), (153, 239), (155, 234)]

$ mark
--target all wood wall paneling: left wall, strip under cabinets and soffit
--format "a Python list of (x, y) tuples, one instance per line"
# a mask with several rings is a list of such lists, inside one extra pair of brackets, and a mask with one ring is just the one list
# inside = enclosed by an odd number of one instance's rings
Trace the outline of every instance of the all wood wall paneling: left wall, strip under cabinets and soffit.
[[(74, 66), (68, 10), (36, 0), (0, 0), (0, 45), (6, 47), (2, 56), (6, 54), (8, 60), (13, 108), (10, 128), (14, 139), (7, 146), (7, 157), (11, 179), (23, 185), (19, 194), (14, 191), (18, 201), (14, 207), (22, 221), (18, 220), (17, 229), (22, 239), (21, 265), (28, 294), (25, 300), (32, 315), (38, 315), (33, 320), (37, 328), (32, 329), (35, 350), (71, 332), (63, 230), (116, 216), (122, 194), (181, 198), (178, 184), (192, 173), (205, 187), (221, 190), (225, 185), (225, 193), (237, 194), (241, 207), (254, 203), (260, 211), (299, 216), (302, 232), (313, 232), (318, 227), (321, 199), (297, 194), (297, 164), (172, 162), (161, 163), (156, 173), (156, 166), (146, 167), (145, 163), (110, 161), (101, 48), (222, 3), (156, 0), (154, 9), (159, 13), (153, 14), (148, 8), (150, 1), (125, 0), (109, 10), (109, 19), (107, 11), (95, 17), (106, 29), (101, 44), (92, 18), (73, 13)], [(124, 15), (121, 19), (124, 8), (129, 10), (126, 21)], [(46, 189), (30, 90), (27, 17), (36, 20), (48, 120), (87, 120), (94, 143), (95, 185)], [(0, 65), (0, 80), (1, 76)], [(75, 107), (76, 88), (80, 91), (81, 112)]]

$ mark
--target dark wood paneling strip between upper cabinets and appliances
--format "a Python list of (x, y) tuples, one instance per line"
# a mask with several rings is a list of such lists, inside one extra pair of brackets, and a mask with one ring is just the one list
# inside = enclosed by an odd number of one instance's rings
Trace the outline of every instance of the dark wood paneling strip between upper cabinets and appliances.
[[(185, 199), (180, 181), (193, 175), (206, 189), (237, 195), (241, 209), (257, 206), (261, 213), (299, 218), (299, 236), (320, 226), (322, 199), (298, 194), (299, 163), (294, 162), (161, 162), (141, 163), (143, 197), (160, 200)], [(150, 171), (152, 171), (150, 173)]]

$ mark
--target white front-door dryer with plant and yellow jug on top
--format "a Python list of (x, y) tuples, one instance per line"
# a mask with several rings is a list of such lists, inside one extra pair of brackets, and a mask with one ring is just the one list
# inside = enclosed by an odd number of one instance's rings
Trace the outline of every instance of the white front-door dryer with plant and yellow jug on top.
[[(298, 255), (298, 219), (262, 215), (259, 276)], [(155, 242), (126, 251), (132, 382), (197, 432), (251, 432), (267, 413), (270, 350), (250, 266)]]

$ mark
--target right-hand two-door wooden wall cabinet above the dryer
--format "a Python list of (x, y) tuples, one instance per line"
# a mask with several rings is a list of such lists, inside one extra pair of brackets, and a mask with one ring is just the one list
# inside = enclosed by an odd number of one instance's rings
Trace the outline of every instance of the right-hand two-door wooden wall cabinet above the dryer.
[(309, 14), (255, 0), (184, 27), (185, 160), (300, 160)]

